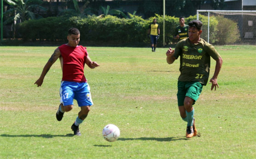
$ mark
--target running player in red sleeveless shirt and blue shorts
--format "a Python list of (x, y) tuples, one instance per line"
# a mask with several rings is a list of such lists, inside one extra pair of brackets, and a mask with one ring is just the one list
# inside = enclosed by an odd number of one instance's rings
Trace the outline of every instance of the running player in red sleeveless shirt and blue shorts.
[(98, 67), (99, 64), (91, 61), (86, 47), (78, 45), (80, 41), (78, 29), (70, 28), (67, 39), (67, 44), (63, 44), (55, 49), (35, 84), (37, 84), (37, 87), (42, 85), (45, 75), (50, 70), (52, 64), (59, 58), (62, 69), (62, 81), (60, 86), (60, 105), (56, 118), (58, 121), (61, 121), (64, 112), (72, 110), (74, 105), (73, 99), (76, 99), (81, 111), (78, 113), (71, 129), (74, 131), (74, 135), (81, 136), (79, 124), (87, 117), (90, 106), (93, 105), (90, 87), (84, 77), (83, 69), (85, 64), (91, 69)]

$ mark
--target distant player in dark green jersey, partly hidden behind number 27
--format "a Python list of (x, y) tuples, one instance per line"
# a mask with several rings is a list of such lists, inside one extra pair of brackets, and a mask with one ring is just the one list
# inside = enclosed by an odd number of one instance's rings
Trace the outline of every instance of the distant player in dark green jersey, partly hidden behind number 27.
[(179, 26), (177, 26), (175, 28), (175, 32), (174, 32), (174, 39), (185, 39), (188, 37), (188, 25), (185, 24), (185, 19), (184, 17), (179, 17)]

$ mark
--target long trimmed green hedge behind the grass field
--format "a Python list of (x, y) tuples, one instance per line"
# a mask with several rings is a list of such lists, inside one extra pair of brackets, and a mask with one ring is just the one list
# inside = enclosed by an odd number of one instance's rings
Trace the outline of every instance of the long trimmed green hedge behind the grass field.
[[(29, 20), (20, 23), (19, 30), (20, 38), (23, 40), (40, 40), (40, 41), (66, 41), (67, 31), (71, 27), (78, 28), (81, 34), (81, 40), (92, 41), (95, 43), (141, 43), (149, 44), (150, 39), (147, 37), (147, 30), (153, 19), (157, 19), (160, 25), (160, 38), (158, 39), (158, 46), (163, 45), (163, 16), (157, 15), (147, 20), (140, 16), (131, 15), (129, 19), (118, 18), (115, 16), (105, 16), (99, 18), (95, 15), (87, 18), (81, 17), (48, 17), (38, 20)], [(196, 16), (185, 18), (186, 24), (195, 20)], [(218, 34), (224, 34), (220, 29), (222, 21), (226, 18), (211, 17), (210, 19), (210, 43), (221, 41)], [(208, 17), (200, 15), (199, 20), (203, 23), (203, 32), (201, 37), (207, 40), (207, 24)], [(219, 23), (221, 21), (221, 23)], [(226, 22), (226, 21), (225, 21)], [(229, 32), (237, 31), (236, 23), (229, 22)], [(173, 40), (174, 30), (179, 25), (179, 18), (165, 16), (165, 43), (170, 44)], [(219, 26), (219, 27), (218, 27)], [(221, 26), (222, 28), (222, 26)], [(230, 35), (230, 34), (228, 34)], [(223, 37), (223, 35), (222, 35)], [(229, 36), (224, 36), (230, 39)], [(226, 41), (224, 39), (224, 41)], [(233, 37), (231, 39), (234, 39)], [(230, 40), (231, 40), (230, 39)], [(230, 41), (229, 40), (229, 41)], [(236, 39), (235, 39), (236, 40)]]

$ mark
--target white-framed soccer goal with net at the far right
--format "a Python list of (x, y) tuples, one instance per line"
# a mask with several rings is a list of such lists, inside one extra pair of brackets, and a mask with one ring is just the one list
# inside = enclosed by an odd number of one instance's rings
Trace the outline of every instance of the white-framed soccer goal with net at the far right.
[[(256, 45), (256, 10), (197, 10), (200, 15), (208, 16), (207, 30), (203, 24), (203, 32), (207, 32), (207, 42), (217, 45)], [(215, 18), (216, 36), (210, 36), (210, 19)], [(211, 33), (212, 34), (212, 33)], [(206, 36), (204, 36), (206, 37)]]

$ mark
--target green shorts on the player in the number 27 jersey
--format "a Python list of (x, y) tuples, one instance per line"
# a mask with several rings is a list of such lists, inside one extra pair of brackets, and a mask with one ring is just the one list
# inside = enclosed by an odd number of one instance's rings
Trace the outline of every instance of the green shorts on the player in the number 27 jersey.
[(185, 97), (190, 97), (194, 99), (193, 105), (195, 101), (199, 98), (203, 88), (203, 84), (198, 81), (191, 81), (191, 82), (182, 82), (178, 81), (178, 106), (184, 105)]

